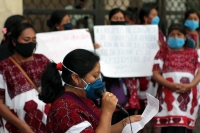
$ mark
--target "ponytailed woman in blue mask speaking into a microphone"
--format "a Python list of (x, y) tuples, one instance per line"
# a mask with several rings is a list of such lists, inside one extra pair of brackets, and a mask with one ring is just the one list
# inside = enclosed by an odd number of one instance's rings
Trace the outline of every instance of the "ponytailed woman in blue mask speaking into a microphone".
[[(58, 70), (62, 70), (61, 76)], [(100, 112), (91, 101), (98, 99), (96, 89), (104, 90), (96, 53), (76, 49), (65, 56), (63, 63), (51, 63), (42, 76), (39, 96), (44, 102), (51, 103), (46, 132), (121, 133), (129, 123), (128, 118), (111, 126), (118, 99), (112, 93), (105, 92)], [(137, 120), (141, 120), (141, 117), (131, 116), (132, 122)]]

